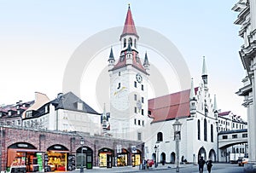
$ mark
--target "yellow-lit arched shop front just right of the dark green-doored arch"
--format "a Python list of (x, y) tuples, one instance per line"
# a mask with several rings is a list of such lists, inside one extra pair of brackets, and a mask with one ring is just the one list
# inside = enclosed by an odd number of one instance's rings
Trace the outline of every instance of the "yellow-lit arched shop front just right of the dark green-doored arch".
[(112, 168), (113, 150), (109, 148), (102, 148), (99, 150), (99, 166)]

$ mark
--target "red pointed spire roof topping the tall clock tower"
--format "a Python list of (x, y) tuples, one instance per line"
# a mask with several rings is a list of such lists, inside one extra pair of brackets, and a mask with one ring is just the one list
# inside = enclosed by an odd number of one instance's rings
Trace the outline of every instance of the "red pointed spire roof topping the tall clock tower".
[(136, 28), (134, 25), (134, 21), (132, 19), (130, 4), (129, 4), (128, 11), (126, 14), (125, 26), (124, 26), (123, 32), (120, 37), (123, 37), (127, 34), (132, 34), (132, 35), (135, 35), (136, 37), (138, 37)]

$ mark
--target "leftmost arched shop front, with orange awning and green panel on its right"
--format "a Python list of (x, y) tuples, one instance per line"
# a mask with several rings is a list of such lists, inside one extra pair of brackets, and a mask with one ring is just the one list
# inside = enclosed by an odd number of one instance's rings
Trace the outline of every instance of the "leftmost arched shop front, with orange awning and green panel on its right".
[(8, 147), (7, 170), (21, 173), (42, 171), (43, 152), (26, 142), (15, 143)]

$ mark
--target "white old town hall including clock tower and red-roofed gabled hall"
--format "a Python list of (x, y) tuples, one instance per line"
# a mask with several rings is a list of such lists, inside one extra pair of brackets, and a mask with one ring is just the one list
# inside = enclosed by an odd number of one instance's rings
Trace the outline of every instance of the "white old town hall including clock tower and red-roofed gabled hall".
[(179, 118), (183, 124), (181, 159), (197, 162), (203, 156), (216, 161), (218, 111), (207, 85), (205, 58), (199, 87), (194, 87), (192, 79), (190, 89), (148, 100), (150, 58), (148, 61), (147, 54), (143, 61), (139, 57), (139, 35), (130, 6), (119, 40), (122, 45), (119, 58), (114, 58), (112, 48), (108, 58), (109, 123), (113, 137), (144, 141), (145, 158), (174, 163), (172, 124)]

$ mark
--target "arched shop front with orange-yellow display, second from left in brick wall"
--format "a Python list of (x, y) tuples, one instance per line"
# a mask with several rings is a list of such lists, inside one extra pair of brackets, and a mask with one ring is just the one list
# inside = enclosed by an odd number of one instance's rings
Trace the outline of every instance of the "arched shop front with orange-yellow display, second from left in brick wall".
[(44, 154), (45, 171), (66, 171), (69, 151), (62, 145), (54, 145)]

